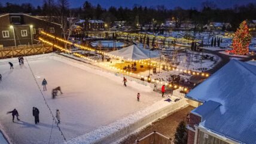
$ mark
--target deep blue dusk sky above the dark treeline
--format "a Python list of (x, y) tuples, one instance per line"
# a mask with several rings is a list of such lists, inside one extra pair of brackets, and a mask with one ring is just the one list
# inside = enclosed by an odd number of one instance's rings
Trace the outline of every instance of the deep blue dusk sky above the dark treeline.
[[(41, 5), (43, 0), (1, 0), (1, 4), (5, 4), (5, 2), (11, 2), (16, 4), (22, 4), (25, 2), (31, 2), (33, 5)], [(69, 0), (69, 4), (72, 8), (74, 7), (81, 7), (83, 2), (86, 0)], [(143, 5), (147, 7), (156, 6), (156, 5), (165, 5), (166, 8), (175, 8), (175, 7), (182, 7), (182, 8), (201, 8), (202, 2), (206, 0), (89, 0), (92, 4), (100, 4), (102, 7), (108, 8), (112, 5), (115, 7), (133, 7), (133, 5)], [(213, 0), (214, 1), (214, 0)], [(255, 0), (215, 0), (215, 4), (219, 8), (229, 8), (233, 7), (234, 5), (245, 5), (249, 2), (255, 2)]]

